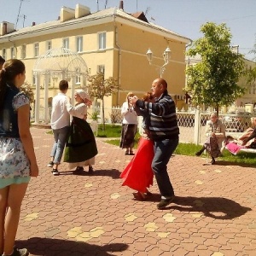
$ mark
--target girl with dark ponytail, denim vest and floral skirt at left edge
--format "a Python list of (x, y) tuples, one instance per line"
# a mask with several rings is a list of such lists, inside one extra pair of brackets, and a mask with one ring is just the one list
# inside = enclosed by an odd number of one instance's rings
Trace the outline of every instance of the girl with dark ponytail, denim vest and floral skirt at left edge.
[[(22, 61), (5, 61), (0, 70), (0, 254), (26, 256), (15, 247), (20, 207), (38, 164), (30, 133), (29, 99), (20, 92), (26, 79)], [(2, 254), (3, 253), (3, 254)]]

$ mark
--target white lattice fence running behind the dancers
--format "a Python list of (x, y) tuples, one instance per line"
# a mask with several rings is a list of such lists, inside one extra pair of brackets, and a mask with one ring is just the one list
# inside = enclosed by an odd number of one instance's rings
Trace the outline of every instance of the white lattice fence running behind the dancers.
[[(90, 115), (93, 112), (98, 113), (98, 123), (102, 123), (102, 109), (91, 108), (88, 111), (88, 122), (91, 122)], [(121, 124), (121, 108), (105, 108), (105, 123), (106, 124)], [(33, 110), (31, 111), (31, 119), (34, 119)], [(48, 117), (46, 122), (49, 123), (51, 109), (49, 108)], [(177, 124), (180, 130), (180, 142), (181, 143), (195, 143), (201, 144), (206, 140), (205, 130), (207, 120), (211, 115), (210, 111), (203, 112), (200, 108), (191, 108), (189, 111), (177, 110)], [(44, 120), (44, 108), (40, 108), (39, 112), (40, 120)], [(256, 116), (255, 113), (219, 113), (219, 119), (224, 123), (226, 127), (226, 134), (230, 134), (233, 137), (239, 137), (241, 132), (245, 131), (251, 125), (251, 117)], [(141, 131), (142, 118), (138, 119), (138, 128)]]

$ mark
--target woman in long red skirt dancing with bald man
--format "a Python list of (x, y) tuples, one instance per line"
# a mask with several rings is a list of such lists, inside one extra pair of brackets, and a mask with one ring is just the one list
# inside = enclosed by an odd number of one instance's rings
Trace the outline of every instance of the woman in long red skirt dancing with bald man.
[[(153, 102), (153, 96), (150, 92), (143, 96), (145, 102)], [(151, 163), (154, 157), (154, 143), (150, 140), (148, 126), (150, 117), (148, 113), (140, 108), (135, 108), (137, 115), (143, 116), (143, 134), (139, 140), (137, 153), (131, 159), (131, 162), (125, 167), (120, 177), (124, 182), (122, 186), (128, 186), (137, 190), (133, 193), (135, 199), (145, 200), (149, 195), (148, 188), (153, 185), (153, 171)]]

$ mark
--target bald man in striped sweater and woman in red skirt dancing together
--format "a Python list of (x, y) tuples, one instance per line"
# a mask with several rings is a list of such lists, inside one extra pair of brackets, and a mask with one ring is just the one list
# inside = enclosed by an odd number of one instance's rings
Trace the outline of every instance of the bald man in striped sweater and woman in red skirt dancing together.
[[(154, 79), (151, 92), (143, 96), (143, 99), (129, 93), (123, 109), (123, 113), (130, 111), (136, 116), (143, 116), (143, 134), (137, 153), (120, 175), (123, 179), (122, 185), (137, 190), (133, 194), (136, 200), (145, 200), (152, 195), (148, 189), (155, 177), (161, 195), (157, 208), (163, 209), (175, 198), (167, 163), (177, 148), (179, 137), (175, 102), (168, 94), (166, 80)], [(123, 136), (127, 134), (125, 129), (123, 124)], [(125, 144), (126, 138), (122, 137), (121, 140), (121, 146), (128, 149), (125, 154), (131, 152), (131, 146)]]

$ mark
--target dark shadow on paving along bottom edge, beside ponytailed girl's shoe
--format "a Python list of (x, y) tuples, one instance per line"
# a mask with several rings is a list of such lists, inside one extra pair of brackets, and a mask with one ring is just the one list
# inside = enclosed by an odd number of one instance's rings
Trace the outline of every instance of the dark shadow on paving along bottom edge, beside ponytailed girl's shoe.
[(26, 241), (16, 241), (17, 247), (26, 247), (30, 255), (40, 256), (114, 256), (128, 248), (125, 243), (110, 243), (97, 246), (82, 241), (68, 241), (54, 238), (32, 237)]

